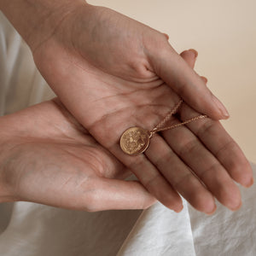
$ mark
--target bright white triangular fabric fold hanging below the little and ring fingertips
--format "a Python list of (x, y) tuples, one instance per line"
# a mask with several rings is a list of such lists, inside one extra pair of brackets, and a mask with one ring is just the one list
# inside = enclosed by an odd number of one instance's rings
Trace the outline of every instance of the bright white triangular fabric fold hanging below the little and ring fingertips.
[(195, 256), (186, 201), (176, 213), (159, 202), (137, 219), (117, 256)]

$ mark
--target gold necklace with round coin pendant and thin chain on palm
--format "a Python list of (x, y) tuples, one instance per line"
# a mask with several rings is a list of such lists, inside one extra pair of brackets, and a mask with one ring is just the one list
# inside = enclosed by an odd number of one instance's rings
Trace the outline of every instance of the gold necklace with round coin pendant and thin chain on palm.
[(171, 112), (166, 115), (166, 117), (160, 121), (151, 131), (147, 131), (141, 127), (131, 127), (124, 131), (120, 138), (120, 148), (125, 152), (125, 154), (138, 155), (143, 154), (148, 148), (150, 138), (153, 137), (154, 133), (159, 131), (166, 131), (173, 128), (176, 128), (181, 125), (189, 124), (197, 119), (207, 118), (207, 115), (198, 115), (192, 119), (183, 121), (176, 125), (171, 125), (163, 127), (166, 122), (172, 118), (172, 115), (177, 113), (178, 108), (182, 105), (183, 100), (177, 102), (177, 104), (172, 108)]

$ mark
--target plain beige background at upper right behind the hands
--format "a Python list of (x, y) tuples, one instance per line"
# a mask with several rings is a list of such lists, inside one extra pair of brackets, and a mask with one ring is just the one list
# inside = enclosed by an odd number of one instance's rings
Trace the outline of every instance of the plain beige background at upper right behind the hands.
[(199, 52), (196, 71), (224, 102), (224, 127), (249, 160), (256, 162), (255, 0), (90, 0), (170, 36), (178, 51)]

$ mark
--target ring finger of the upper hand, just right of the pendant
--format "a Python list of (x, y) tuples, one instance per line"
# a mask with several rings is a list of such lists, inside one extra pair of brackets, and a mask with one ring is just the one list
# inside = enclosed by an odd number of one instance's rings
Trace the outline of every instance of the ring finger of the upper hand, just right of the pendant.
[(172, 184), (173, 189), (189, 201), (191, 206), (207, 214), (215, 211), (216, 205), (212, 194), (195, 177), (191, 169), (177, 157), (162, 137), (154, 135), (145, 154)]

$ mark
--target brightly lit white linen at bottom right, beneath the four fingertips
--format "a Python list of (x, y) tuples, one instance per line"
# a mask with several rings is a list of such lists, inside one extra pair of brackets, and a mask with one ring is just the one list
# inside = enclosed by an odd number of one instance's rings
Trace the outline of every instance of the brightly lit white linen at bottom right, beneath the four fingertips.
[[(253, 165), (254, 178), (256, 166)], [(118, 256), (255, 256), (256, 188), (241, 188), (243, 206), (231, 212), (217, 202), (212, 216), (186, 201), (180, 213), (155, 204), (143, 211)]]

